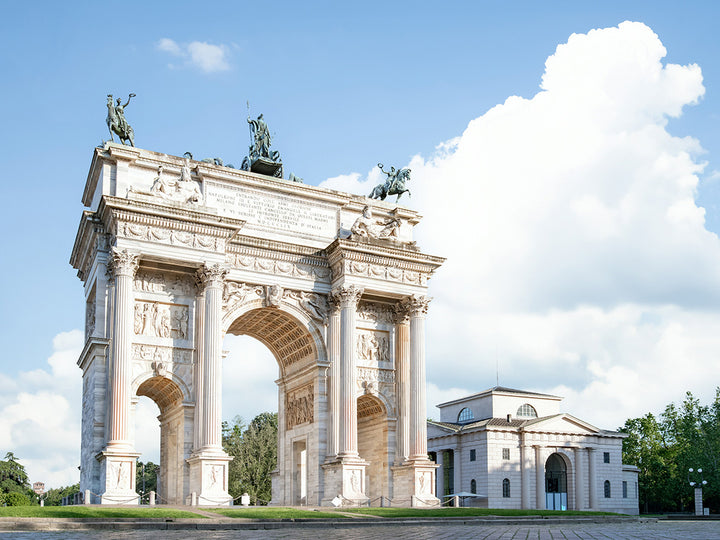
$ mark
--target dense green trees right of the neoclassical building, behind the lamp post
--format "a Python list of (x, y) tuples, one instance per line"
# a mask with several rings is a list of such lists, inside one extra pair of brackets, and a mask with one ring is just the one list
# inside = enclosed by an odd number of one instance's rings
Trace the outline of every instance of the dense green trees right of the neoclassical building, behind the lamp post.
[(640, 469), (639, 496), (643, 512), (681, 512), (694, 505), (688, 469), (703, 470), (706, 507), (720, 510), (720, 388), (704, 406), (690, 392), (676, 406), (671, 403), (659, 418), (652, 414), (631, 418), (621, 428), (623, 463)]

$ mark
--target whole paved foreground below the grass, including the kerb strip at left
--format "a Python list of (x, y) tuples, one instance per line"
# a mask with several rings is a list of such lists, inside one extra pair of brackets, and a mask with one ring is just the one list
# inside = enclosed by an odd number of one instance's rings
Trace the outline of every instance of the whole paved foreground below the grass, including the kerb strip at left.
[(646, 518), (425, 518), (425, 519), (46, 519), (0, 518), (0, 540), (297, 540), (388, 539), (619, 539), (720, 540), (717, 521)]

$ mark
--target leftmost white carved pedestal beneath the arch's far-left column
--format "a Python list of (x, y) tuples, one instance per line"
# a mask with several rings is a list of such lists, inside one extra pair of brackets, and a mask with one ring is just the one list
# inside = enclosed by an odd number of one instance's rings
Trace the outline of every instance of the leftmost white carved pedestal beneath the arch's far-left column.
[(135, 493), (135, 469), (139, 457), (138, 452), (113, 449), (110, 446), (95, 456), (100, 462), (100, 486), (103, 491), (95, 496), (91, 494), (92, 502), (140, 504), (140, 496)]

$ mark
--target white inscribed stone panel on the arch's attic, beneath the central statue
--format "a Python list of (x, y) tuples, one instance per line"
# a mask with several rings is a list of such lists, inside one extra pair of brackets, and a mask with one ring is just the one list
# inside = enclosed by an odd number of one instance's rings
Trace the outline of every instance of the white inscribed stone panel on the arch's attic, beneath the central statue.
[(207, 180), (205, 204), (227, 216), (279, 231), (327, 238), (337, 233), (335, 209), (280, 193)]

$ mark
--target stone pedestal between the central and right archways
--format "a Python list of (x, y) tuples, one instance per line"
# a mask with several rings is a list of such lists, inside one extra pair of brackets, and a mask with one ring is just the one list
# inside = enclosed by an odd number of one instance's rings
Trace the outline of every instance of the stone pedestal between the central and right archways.
[(325, 471), (325, 497), (322, 506), (361, 506), (367, 504), (365, 469), (370, 465), (359, 457), (338, 458), (322, 465)]

